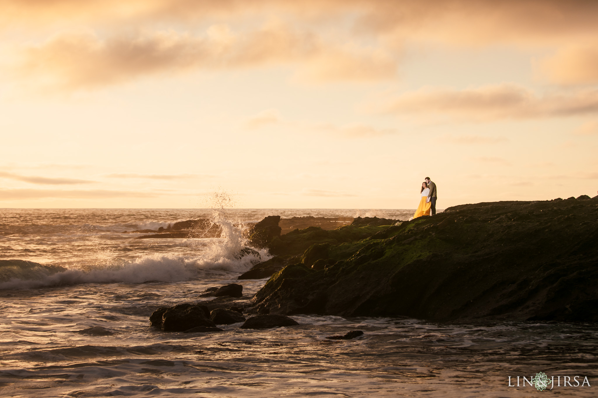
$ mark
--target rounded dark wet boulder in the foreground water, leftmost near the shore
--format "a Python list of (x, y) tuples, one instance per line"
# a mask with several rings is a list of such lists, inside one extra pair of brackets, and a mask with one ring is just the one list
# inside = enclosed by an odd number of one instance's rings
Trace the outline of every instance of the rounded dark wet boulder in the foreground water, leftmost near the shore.
[(196, 326), (213, 328), (216, 325), (206, 316), (206, 310), (205, 306), (190, 303), (158, 308), (149, 316), (149, 322), (164, 332), (184, 332)]

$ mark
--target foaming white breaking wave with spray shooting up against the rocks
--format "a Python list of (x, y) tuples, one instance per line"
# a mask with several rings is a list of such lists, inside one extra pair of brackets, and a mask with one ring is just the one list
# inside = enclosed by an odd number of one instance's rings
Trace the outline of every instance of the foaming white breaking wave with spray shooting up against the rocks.
[[(221, 227), (220, 238), (161, 239), (157, 236), (137, 240), (133, 238), (140, 234), (109, 233), (106, 228), (84, 224), (69, 242), (60, 242), (65, 246), (85, 246), (85, 252), (77, 261), (45, 261), (26, 266), (1, 264), (0, 289), (77, 283), (177, 282), (199, 279), (206, 273), (243, 273), (255, 263), (270, 258), (264, 249), (255, 249), (257, 255), (252, 252), (241, 255), (242, 249), (248, 247), (243, 237), (247, 226), (228, 220), (223, 206), (233, 203), (232, 199), (223, 193), (216, 193), (214, 197), (219, 208), (213, 208), (209, 218), (212, 224)], [(48, 267), (48, 263), (55, 267)]]

